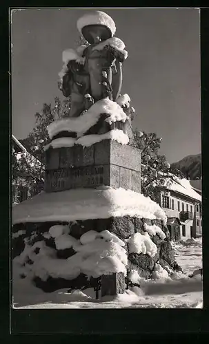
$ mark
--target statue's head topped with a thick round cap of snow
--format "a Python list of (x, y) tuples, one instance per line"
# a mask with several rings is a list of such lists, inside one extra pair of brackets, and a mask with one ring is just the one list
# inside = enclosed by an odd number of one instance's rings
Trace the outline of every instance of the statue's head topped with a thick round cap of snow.
[(88, 43), (106, 41), (115, 34), (115, 23), (108, 14), (95, 11), (85, 14), (77, 21), (77, 28)]

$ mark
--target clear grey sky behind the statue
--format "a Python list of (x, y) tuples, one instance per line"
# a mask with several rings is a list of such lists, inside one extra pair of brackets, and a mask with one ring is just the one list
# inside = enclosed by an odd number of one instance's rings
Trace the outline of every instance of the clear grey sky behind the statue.
[[(57, 88), (62, 52), (76, 47), (77, 19), (92, 8), (12, 13), (12, 133), (26, 138)], [(135, 107), (134, 127), (162, 137), (168, 162), (201, 152), (199, 10), (97, 8), (114, 19), (128, 58), (121, 93)]]

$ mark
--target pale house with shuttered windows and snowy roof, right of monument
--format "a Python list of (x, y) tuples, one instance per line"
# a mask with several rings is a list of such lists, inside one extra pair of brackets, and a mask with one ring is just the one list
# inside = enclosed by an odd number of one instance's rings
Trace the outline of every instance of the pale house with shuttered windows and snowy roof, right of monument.
[(201, 195), (189, 180), (177, 179), (165, 189), (157, 189), (157, 202), (168, 217), (167, 225), (173, 240), (201, 235)]

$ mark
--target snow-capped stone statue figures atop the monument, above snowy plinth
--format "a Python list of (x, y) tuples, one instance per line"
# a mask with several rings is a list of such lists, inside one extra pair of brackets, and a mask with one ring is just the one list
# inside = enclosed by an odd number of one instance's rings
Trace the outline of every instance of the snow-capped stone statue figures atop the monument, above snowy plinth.
[(77, 22), (88, 45), (67, 50), (63, 54), (63, 95), (71, 98), (70, 117), (78, 117), (85, 109), (103, 98), (117, 100), (122, 84), (122, 63), (127, 57), (124, 43), (113, 37), (115, 23), (108, 14), (96, 11)]

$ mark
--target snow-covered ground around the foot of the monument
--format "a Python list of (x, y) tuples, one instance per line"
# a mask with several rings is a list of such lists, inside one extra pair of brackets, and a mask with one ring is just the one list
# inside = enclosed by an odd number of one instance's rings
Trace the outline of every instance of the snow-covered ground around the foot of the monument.
[(202, 267), (201, 238), (172, 244), (178, 264), (186, 275), (176, 274), (174, 279), (159, 277), (153, 281), (141, 280), (141, 288), (133, 287), (126, 294), (105, 297), (97, 301), (93, 289), (83, 292), (67, 290), (44, 293), (26, 281), (14, 290), (14, 308), (202, 308), (201, 277), (188, 279), (187, 275)]

